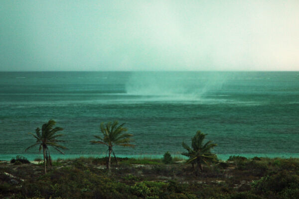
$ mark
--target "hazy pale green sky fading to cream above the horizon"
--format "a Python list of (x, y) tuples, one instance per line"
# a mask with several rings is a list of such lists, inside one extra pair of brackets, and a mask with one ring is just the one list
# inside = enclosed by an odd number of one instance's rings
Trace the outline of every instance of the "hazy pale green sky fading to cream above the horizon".
[(299, 0), (1, 0), (0, 71), (299, 71)]

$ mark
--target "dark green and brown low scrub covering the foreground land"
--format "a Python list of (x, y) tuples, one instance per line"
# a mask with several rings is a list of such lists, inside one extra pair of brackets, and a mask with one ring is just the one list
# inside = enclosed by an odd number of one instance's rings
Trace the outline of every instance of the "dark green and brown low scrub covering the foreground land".
[[(168, 156), (168, 155), (167, 155)], [(43, 175), (43, 163), (0, 162), (0, 198), (9, 199), (299, 199), (299, 159), (233, 156), (195, 175), (173, 158), (57, 160)]]

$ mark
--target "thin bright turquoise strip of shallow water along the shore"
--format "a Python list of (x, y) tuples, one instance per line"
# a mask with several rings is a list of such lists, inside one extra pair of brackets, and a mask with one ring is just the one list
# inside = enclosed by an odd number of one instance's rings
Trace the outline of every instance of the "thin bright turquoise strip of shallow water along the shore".
[[(12, 158), (15, 158), (17, 155), (25, 157), (29, 161), (33, 161), (35, 158), (41, 158), (42, 154), (0, 154), (0, 161), (10, 161)], [(276, 154), (216, 154), (219, 160), (226, 161), (230, 156), (243, 156), (246, 158), (253, 157), (263, 157), (263, 158), (299, 158), (298, 153), (276, 153)], [(120, 158), (135, 158), (135, 159), (161, 159), (163, 154), (160, 155), (150, 155), (150, 154), (140, 154), (140, 155), (124, 155), (124, 154), (116, 154), (117, 157)], [(180, 159), (187, 159), (186, 156), (180, 154), (171, 154), (172, 157), (178, 157)], [(106, 155), (102, 154), (51, 154), (52, 160), (57, 159), (76, 159), (76, 158), (103, 158)]]

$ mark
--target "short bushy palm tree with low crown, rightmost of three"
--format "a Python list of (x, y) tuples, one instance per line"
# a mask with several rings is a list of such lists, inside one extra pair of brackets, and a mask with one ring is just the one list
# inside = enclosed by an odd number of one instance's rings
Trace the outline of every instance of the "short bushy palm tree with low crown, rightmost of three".
[(188, 151), (187, 153), (182, 153), (182, 155), (187, 156), (189, 159), (186, 163), (197, 163), (196, 175), (198, 175), (198, 170), (202, 169), (202, 163), (205, 163), (209, 166), (209, 162), (216, 158), (216, 155), (211, 153), (211, 149), (217, 144), (208, 141), (203, 144), (203, 140), (207, 134), (203, 134), (200, 131), (197, 131), (194, 137), (192, 138), (192, 148), (190, 148), (184, 142), (182, 146)]

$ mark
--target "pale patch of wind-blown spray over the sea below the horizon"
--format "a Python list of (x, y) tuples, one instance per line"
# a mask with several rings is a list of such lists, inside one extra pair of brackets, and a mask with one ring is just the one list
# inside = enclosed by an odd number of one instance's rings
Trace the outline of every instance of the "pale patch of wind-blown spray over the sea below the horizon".
[(148, 100), (199, 101), (222, 89), (227, 74), (217, 72), (134, 72), (126, 84), (128, 95)]

